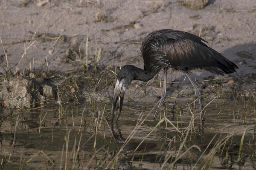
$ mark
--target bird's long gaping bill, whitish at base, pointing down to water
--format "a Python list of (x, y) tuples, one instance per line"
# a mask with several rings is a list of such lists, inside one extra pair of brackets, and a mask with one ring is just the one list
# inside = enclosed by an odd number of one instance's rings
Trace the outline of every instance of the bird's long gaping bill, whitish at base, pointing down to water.
[(121, 110), (122, 110), (122, 104), (124, 101), (124, 96), (125, 96), (125, 85), (124, 85), (124, 81), (121, 80), (119, 82), (119, 80), (116, 81), (116, 85), (115, 85), (115, 90), (114, 90), (114, 96), (113, 96), (113, 103), (112, 103), (112, 110), (111, 110), (111, 121), (113, 122), (114, 116), (115, 116), (115, 108), (116, 108), (116, 103), (117, 100), (119, 99), (119, 112), (118, 112), (118, 116), (116, 118), (116, 122), (120, 116)]

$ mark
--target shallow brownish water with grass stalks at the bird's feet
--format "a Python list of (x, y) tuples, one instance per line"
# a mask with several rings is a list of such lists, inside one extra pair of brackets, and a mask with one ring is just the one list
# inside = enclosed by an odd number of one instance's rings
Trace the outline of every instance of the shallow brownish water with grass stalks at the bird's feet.
[(110, 103), (1, 108), (2, 169), (254, 169), (256, 113), (248, 103), (210, 103), (197, 137), (198, 105), (166, 103), (154, 121), (152, 103), (126, 102), (116, 139)]

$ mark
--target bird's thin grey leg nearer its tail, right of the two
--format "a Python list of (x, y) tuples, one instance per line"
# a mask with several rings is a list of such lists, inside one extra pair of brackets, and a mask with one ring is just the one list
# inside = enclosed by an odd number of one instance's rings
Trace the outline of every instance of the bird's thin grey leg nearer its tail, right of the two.
[(200, 106), (200, 111), (201, 111), (201, 125), (200, 125), (200, 131), (201, 134), (204, 134), (204, 111), (203, 111), (203, 102), (202, 102), (202, 94), (201, 91), (198, 89), (198, 87), (195, 85), (195, 82), (192, 80), (192, 78), (189, 76), (189, 73), (185, 72), (186, 77), (188, 77), (189, 81), (191, 82), (192, 86), (195, 88), (196, 95), (198, 96), (199, 99), (199, 106)]

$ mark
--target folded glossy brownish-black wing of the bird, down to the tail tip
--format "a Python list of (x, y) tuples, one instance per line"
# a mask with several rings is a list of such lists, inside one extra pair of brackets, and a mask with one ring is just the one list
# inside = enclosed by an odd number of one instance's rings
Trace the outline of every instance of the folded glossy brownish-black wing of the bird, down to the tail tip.
[(233, 73), (237, 68), (233, 62), (204, 44), (206, 41), (201, 37), (183, 31), (163, 36), (166, 39), (163, 38), (165, 42), (160, 45), (160, 58), (171, 67), (183, 71), (199, 68), (221, 75)]

